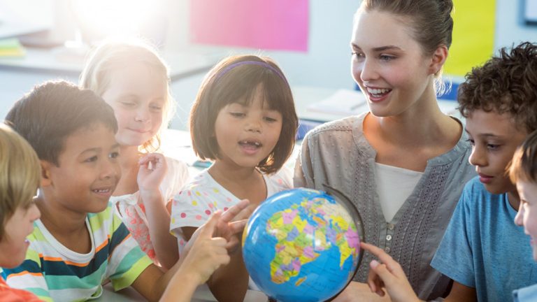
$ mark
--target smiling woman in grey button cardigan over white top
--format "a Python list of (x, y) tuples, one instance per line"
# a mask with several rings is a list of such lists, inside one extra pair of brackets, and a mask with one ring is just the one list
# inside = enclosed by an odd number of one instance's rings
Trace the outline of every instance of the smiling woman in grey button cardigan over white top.
[[(451, 11), (450, 0), (361, 2), (351, 71), (369, 112), (306, 135), (294, 179), (295, 187), (327, 184), (350, 196), (366, 217), (366, 242), (400, 261), (422, 299), (447, 289), (449, 280), (429, 263), (473, 176), (462, 124), (436, 100), (451, 45)], [(366, 254), (364, 262), (372, 259)], [(367, 275), (362, 266), (342, 299), (364, 295), (358, 282)]]

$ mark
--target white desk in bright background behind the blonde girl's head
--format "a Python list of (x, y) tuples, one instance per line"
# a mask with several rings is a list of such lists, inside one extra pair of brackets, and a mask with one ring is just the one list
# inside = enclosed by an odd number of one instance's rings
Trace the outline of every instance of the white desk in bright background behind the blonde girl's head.
[[(62, 79), (78, 83), (85, 54), (76, 55), (72, 52), (71, 55), (66, 55), (66, 53), (59, 48), (52, 50), (27, 48), (25, 57), (0, 57), (0, 117), (3, 119), (13, 103), (24, 93), (46, 80)], [(179, 103), (172, 127), (186, 129), (189, 109), (199, 83), (219, 56), (164, 52), (163, 57), (170, 66), (171, 93)]]

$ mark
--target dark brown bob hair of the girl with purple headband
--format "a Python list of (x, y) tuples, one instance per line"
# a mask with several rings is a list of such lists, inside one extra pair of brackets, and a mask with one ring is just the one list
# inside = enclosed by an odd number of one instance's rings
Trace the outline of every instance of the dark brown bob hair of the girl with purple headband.
[[(260, 64), (238, 64), (260, 62)], [(236, 66), (231, 66), (238, 64)], [(270, 66), (270, 67), (269, 67)], [(261, 85), (264, 102), (282, 115), (282, 131), (274, 149), (259, 162), (264, 173), (278, 171), (294, 147), (298, 117), (289, 84), (278, 65), (268, 57), (238, 55), (227, 57), (209, 71), (190, 111), (190, 135), (194, 152), (201, 159), (219, 158), (215, 122), (220, 110), (230, 103), (248, 104)]]

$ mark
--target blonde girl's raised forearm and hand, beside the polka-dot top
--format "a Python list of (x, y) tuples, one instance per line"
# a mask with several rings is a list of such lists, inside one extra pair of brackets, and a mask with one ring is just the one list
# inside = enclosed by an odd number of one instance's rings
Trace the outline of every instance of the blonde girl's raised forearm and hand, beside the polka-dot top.
[(171, 235), (170, 214), (159, 186), (166, 175), (166, 158), (159, 153), (150, 153), (139, 161), (138, 188), (148, 218), (148, 229), (155, 254), (160, 264), (169, 269), (179, 259), (176, 238)]

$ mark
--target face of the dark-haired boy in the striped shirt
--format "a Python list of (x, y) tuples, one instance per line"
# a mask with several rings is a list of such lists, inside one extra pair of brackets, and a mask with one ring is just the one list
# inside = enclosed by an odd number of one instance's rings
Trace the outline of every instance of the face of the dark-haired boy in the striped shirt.
[(75, 213), (99, 213), (120, 179), (119, 145), (103, 124), (80, 129), (66, 138), (59, 166), (45, 163), (48, 185), (45, 198), (58, 208)]

